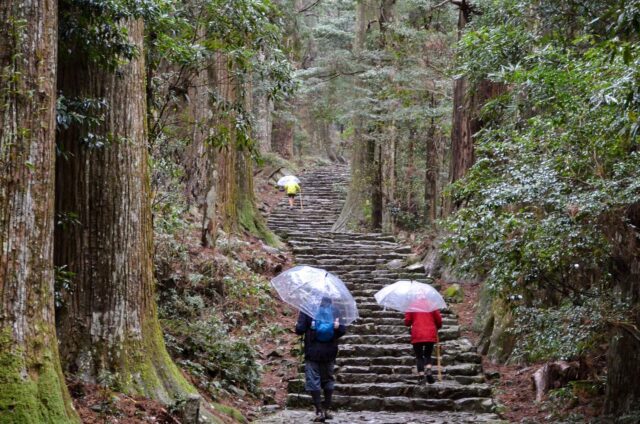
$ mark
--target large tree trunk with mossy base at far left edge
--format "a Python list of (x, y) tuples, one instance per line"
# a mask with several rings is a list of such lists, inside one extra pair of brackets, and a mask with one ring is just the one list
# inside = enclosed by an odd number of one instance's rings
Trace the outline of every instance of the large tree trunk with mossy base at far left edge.
[(0, 422), (74, 422), (54, 323), (57, 2), (0, 2)]

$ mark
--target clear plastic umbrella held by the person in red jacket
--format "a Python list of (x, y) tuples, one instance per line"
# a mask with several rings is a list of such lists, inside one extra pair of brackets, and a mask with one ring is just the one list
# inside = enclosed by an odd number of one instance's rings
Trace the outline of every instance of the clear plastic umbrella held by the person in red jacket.
[(447, 307), (438, 290), (412, 280), (396, 281), (383, 287), (374, 297), (379, 305), (400, 312), (432, 312)]

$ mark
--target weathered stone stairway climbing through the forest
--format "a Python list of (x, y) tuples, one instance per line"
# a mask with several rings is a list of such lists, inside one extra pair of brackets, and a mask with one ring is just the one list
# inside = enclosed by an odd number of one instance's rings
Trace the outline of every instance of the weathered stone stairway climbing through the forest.
[[(443, 381), (416, 384), (415, 360), (402, 313), (385, 311), (373, 294), (399, 279), (429, 281), (422, 269), (396, 268), (411, 254), (391, 235), (332, 233), (348, 182), (346, 167), (303, 175), (304, 210), (283, 199), (268, 224), (287, 240), (297, 264), (324, 268), (345, 281), (358, 303), (360, 319), (342, 337), (336, 361), (335, 423), (500, 422), (493, 413), (491, 387), (484, 382), (481, 357), (460, 337), (457, 317), (443, 312), (440, 330)], [(259, 423), (297, 423), (312, 419), (303, 375), (289, 382), (287, 410)], [(298, 408), (296, 410), (295, 408)], [(304, 410), (299, 410), (304, 408)]]

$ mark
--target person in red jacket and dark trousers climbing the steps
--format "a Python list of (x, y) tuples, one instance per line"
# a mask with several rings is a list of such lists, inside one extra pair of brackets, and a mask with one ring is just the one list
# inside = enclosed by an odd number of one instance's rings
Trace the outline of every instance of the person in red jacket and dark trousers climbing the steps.
[(431, 375), (431, 353), (433, 346), (438, 342), (438, 330), (442, 327), (440, 311), (406, 312), (404, 325), (411, 327), (411, 344), (416, 355), (419, 374), (418, 384), (424, 384), (425, 379), (429, 384), (433, 384), (435, 379)]

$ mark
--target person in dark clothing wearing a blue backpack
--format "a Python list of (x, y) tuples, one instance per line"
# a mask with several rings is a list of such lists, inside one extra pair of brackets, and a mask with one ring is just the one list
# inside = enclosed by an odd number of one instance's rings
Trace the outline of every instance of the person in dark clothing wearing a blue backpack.
[[(311, 318), (304, 312), (298, 315), (296, 334), (304, 334), (304, 388), (311, 394), (316, 408), (314, 422), (324, 422), (333, 418), (331, 396), (335, 378), (333, 369), (338, 356), (338, 342), (346, 332), (346, 327), (340, 324), (336, 308), (331, 299), (323, 297), (316, 318)], [(321, 393), (324, 391), (324, 403)]]

